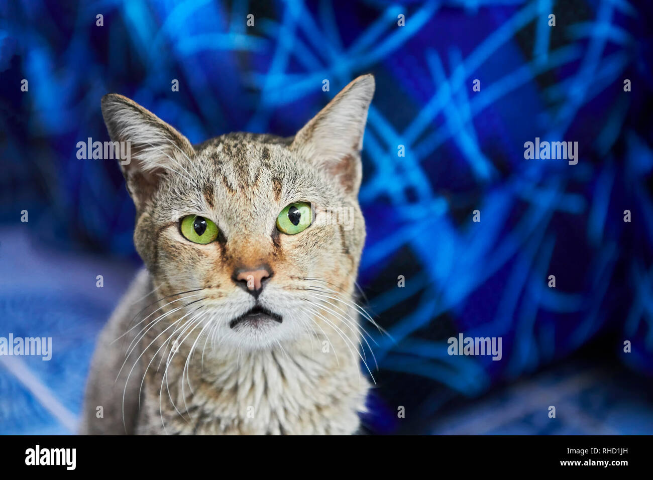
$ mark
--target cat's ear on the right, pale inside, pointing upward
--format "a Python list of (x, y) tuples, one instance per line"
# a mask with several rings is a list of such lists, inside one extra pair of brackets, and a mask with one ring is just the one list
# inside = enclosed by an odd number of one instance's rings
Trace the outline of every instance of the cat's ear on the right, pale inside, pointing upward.
[(360, 150), (373, 95), (374, 76), (359, 76), (304, 125), (291, 145), (301, 157), (326, 168), (353, 195), (360, 187)]

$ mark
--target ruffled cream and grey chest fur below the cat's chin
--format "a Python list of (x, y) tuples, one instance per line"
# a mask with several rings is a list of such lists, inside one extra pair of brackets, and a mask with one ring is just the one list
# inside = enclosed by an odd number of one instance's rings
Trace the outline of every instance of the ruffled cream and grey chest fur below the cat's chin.
[(148, 373), (136, 433), (353, 434), (368, 381), (355, 362), (317, 355), (294, 347)]

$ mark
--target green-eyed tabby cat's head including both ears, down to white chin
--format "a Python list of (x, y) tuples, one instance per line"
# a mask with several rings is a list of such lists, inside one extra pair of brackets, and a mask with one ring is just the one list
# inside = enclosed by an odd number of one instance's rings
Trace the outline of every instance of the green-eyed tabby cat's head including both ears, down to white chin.
[(133, 101), (103, 98), (112, 140), (131, 146), (121, 167), (136, 249), (172, 302), (161, 325), (190, 321), (199, 336), (249, 349), (320, 329), (351, 336), (373, 93), (372, 76), (357, 78), (294, 138), (233, 133), (194, 147)]

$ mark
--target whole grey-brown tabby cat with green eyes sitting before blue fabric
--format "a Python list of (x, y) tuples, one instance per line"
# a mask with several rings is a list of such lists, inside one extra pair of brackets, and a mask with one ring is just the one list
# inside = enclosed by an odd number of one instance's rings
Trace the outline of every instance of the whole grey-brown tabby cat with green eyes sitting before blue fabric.
[[(191, 145), (121, 95), (102, 99), (144, 268), (99, 336), (82, 434), (355, 434), (370, 381), (355, 280), (360, 151), (374, 76), (291, 138)], [(350, 212), (347, 229), (320, 221)], [(371, 372), (370, 372), (371, 373)]]

